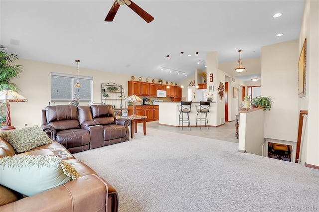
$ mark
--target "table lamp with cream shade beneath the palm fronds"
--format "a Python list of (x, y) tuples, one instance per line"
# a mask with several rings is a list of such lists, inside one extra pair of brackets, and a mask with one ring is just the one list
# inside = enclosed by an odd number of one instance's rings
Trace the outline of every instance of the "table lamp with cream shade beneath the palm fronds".
[(5, 89), (0, 91), (0, 102), (6, 103), (6, 119), (5, 125), (1, 130), (5, 129), (15, 129), (14, 126), (11, 126), (11, 117), (10, 117), (10, 102), (27, 102), (28, 100), (23, 96), (19, 95), (15, 91)]

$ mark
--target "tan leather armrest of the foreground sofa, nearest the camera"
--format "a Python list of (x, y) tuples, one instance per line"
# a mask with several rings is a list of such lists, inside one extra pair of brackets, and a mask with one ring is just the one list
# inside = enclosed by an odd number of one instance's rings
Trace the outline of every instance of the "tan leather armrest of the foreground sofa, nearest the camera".
[(91, 174), (0, 207), (0, 211), (108, 211), (108, 186)]

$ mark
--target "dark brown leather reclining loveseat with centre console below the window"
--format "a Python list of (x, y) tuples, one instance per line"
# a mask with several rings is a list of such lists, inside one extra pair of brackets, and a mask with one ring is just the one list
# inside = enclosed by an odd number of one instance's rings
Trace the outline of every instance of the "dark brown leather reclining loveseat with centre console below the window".
[(46, 106), (41, 128), (71, 153), (130, 140), (131, 120), (116, 118), (110, 105)]

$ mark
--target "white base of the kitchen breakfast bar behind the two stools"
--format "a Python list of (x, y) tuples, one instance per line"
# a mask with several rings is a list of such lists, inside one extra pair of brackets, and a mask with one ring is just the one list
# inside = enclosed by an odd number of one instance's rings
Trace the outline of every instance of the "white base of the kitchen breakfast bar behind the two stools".
[[(208, 124), (209, 126), (212, 126), (211, 123), (213, 123), (213, 113), (215, 112), (213, 110), (213, 107), (216, 102), (210, 103), (210, 109), (207, 113), (208, 117)], [(180, 106), (180, 102), (160, 102), (159, 103), (159, 124), (160, 125), (166, 125), (166, 126), (178, 126), (179, 122), (179, 111), (178, 106)], [(189, 113), (189, 122), (191, 126), (196, 125), (196, 106), (199, 106), (199, 102), (192, 102), (191, 109)], [(185, 117), (185, 115), (184, 115)], [(180, 122), (180, 127), (183, 124), (183, 126), (187, 127), (187, 123)], [(198, 121), (198, 125), (200, 125), (200, 122)]]

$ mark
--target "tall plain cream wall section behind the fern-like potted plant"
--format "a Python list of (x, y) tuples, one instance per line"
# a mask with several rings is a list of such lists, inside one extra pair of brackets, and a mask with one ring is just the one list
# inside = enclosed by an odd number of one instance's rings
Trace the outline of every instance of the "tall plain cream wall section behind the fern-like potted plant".
[(265, 111), (265, 138), (297, 141), (298, 40), (261, 48), (261, 95), (273, 97)]

